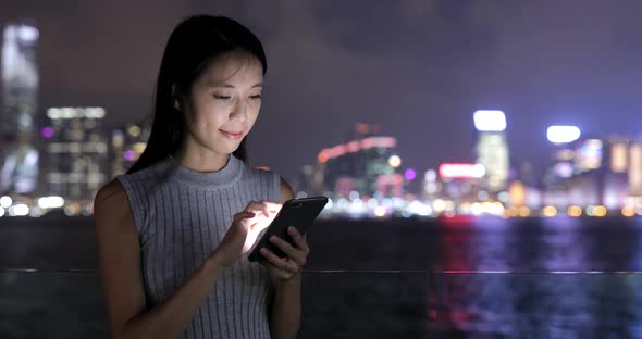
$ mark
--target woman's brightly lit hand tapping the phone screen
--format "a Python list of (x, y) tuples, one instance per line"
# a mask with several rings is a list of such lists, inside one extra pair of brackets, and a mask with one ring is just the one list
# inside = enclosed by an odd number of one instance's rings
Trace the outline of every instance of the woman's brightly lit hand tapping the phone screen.
[(259, 234), (272, 223), (281, 204), (271, 201), (250, 201), (247, 206), (234, 214), (232, 226), (210, 255), (210, 259), (223, 267), (233, 265), (247, 253)]

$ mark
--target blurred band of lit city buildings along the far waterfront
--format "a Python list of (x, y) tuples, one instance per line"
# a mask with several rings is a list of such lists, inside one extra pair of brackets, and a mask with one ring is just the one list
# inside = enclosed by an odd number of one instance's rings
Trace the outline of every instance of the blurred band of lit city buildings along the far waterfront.
[[(38, 216), (60, 208), (69, 215), (91, 214), (98, 187), (123, 174), (146, 147), (149, 126), (131, 122), (115, 129), (101, 126), (107, 115), (102, 108), (50, 108), (47, 112), (49, 123), (36, 140), (46, 155), (39, 168), (42, 186), (27, 196), (5, 191), (2, 215), (29, 211)], [(484, 133), (504, 131), (504, 126), (493, 130), (473, 121), (482, 138), (489, 136)], [(548, 129), (555, 151), (545, 175), (529, 180), (527, 175), (532, 174), (511, 165), (505, 181), (495, 186), (483, 159), (441, 162), (439, 168), (409, 167), (405, 165), (408, 158), (397, 150), (396, 136), (383, 133), (382, 126), (355, 123), (344, 143), (318, 151), (316, 163), (301, 168), (293, 187), (297, 197), (330, 197), (330, 214), (353, 217), (642, 215), (642, 139), (583, 138), (575, 126)], [(501, 143), (484, 147), (490, 153), (495, 148), (508, 153), (502, 156), (509, 156), (511, 149)]]

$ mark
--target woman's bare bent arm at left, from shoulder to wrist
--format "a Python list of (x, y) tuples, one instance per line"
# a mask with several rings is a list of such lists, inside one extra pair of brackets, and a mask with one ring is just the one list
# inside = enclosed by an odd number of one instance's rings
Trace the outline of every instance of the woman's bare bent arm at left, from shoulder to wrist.
[(225, 267), (217, 260), (217, 251), (164, 303), (146, 310), (138, 231), (120, 181), (112, 180), (98, 192), (95, 221), (114, 338), (178, 337)]

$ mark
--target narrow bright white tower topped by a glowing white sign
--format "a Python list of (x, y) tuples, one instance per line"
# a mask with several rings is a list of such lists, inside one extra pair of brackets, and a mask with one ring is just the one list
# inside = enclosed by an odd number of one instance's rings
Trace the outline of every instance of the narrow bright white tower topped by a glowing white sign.
[(493, 193), (503, 191), (507, 188), (509, 170), (506, 116), (502, 111), (477, 111), (473, 120), (478, 130), (477, 163), (486, 171), (483, 186)]

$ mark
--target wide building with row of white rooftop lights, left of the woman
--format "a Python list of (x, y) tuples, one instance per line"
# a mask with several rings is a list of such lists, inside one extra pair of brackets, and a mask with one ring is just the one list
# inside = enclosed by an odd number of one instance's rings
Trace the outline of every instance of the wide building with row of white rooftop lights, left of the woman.
[(102, 108), (52, 108), (50, 126), (42, 128), (48, 140), (47, 184), (50, 194), (90, 201), (109, 178), (109, 148), (101, 129)]

